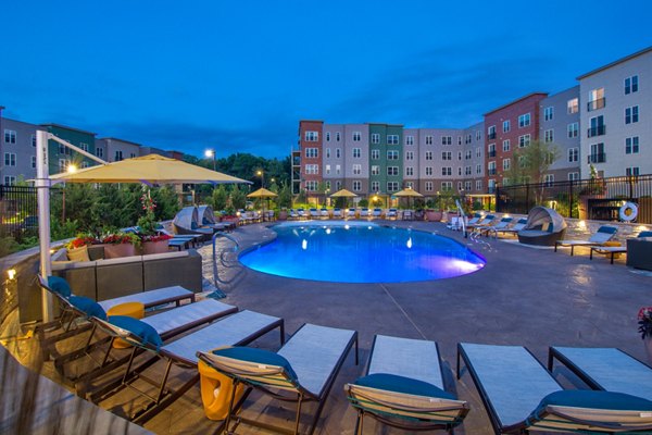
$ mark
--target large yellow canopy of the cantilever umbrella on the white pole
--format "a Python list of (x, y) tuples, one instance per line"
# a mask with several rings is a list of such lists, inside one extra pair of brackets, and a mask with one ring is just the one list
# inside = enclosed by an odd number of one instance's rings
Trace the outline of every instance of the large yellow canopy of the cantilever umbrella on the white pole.
[(97, 166), (86, 167), (73, 173), (51, 175), (53, 182), (66, 183), (247, 183), (221, 172), (170, 159), (159, 154), (148, 154), (133, 159), (121, 160)]

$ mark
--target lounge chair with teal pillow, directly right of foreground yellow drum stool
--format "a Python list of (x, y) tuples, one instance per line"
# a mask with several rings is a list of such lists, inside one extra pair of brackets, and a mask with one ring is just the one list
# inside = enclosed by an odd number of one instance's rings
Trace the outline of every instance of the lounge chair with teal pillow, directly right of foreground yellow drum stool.
[[(234, 391), (241, 383), (249, 386), (250, 390), (253, 387), (277, 398), (297, 401), (294, 434), (299, 433), (302, 402), (317, 401), (310, 430), (306, 431), (312, 434), (337, 373), (354, 344), (358, 364), (355, 331), (304, 324), (276, 353), (252, 348), (227, 348), (197, 355), (210, 366), (231, 377)], [(239, 423), (271, 428), (260, 419), (237, 415), (238, 411), (231, 397), (225, 422), (227, 433), (235, 431)], [(231, 419), (237, 420), (234, 427), (229, 427)]]

